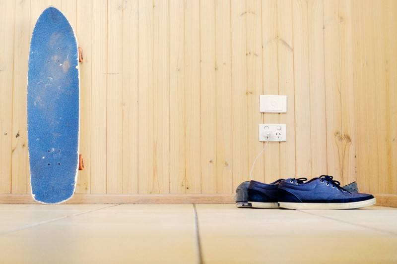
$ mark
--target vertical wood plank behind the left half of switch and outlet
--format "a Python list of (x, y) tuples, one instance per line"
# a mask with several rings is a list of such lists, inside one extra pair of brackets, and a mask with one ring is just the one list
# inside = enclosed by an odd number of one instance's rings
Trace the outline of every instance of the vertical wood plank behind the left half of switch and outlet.
[[(265, 95), (278, 95), (278, 33), (277, 1), (262, 2), (262, 78)], [(258, 109), (257, 109), (258, 110)], [(289, 110), (289, 109), (288, 109)], [(290, 114), (290, 113), (288, 113)], [(264, 123), (279, 123), (278, 113), (265, 113)], [(252, 129), (252, 128), (251, 128)], [(289, 129), (289, 127), (288, 127)], [(287, 139), (288, 140), (288, 139)], [(288, 141), (289, 143), (289, 141)], [(280, 143), (268, 143), (265, 158), (265, 182), (280, 178)]]

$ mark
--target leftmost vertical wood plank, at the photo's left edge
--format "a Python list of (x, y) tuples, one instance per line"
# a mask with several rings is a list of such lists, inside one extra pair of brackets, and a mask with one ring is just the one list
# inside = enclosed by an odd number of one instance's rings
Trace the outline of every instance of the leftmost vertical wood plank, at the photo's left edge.
[(15, 2), (0, 9), (0, 193), (11, 192), (12, 83)]

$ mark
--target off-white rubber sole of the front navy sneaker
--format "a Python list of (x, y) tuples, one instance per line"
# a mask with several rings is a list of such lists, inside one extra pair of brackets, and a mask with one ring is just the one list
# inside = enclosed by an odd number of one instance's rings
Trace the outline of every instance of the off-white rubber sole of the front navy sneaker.
[(337, 210), (337, 209), (357, 209), (375, 205), (376, 198), (360, 202), (351, 203), (284, 203), (279, 202), (280, 208), (294, 210)]

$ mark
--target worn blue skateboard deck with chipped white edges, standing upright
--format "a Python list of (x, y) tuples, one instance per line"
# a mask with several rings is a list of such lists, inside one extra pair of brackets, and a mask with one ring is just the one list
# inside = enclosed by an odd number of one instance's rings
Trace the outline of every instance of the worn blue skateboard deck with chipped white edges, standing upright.
[(33, 30), (28, 70), (28, 150), (33, 199), (65, 202), (79, 165), (79, 57), (64, 14), (48, 7)]

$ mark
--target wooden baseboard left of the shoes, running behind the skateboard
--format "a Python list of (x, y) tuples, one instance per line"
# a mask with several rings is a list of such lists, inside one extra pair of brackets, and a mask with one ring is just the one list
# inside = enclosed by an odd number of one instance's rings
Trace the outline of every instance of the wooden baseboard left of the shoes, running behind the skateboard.
[[(36, 203), (28, 194), (0, 194), (0, 204)], [(230, 204), (232, 194), (75, 194), (66, 204)]]

